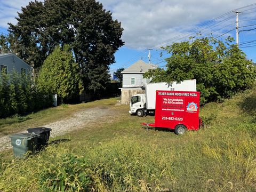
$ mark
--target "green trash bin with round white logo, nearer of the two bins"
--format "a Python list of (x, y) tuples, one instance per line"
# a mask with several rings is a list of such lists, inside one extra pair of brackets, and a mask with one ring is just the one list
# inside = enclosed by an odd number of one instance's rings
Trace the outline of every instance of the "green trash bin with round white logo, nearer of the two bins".
[(26, 157), (28, 151), (32, 153), (37, 148), (38, 135), (33, 133), (18, 133), (10, 136), (15, 157)]

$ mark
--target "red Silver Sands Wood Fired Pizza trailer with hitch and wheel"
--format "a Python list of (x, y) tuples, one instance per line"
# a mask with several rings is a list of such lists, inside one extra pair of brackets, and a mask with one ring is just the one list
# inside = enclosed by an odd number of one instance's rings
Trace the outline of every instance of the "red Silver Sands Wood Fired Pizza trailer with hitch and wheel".
[(198, 130), (199, 98), (200, 92), (195, 91), (156, 91), (155, 123), (142, 125), (174, 129), (175, 134)]

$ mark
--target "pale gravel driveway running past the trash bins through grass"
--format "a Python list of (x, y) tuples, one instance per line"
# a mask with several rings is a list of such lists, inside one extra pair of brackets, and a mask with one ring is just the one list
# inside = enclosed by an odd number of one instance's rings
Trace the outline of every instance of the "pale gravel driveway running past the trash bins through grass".
[[(96, 123), (103, 121), (104, 119), (110, 119), (113, 116), (115, 111), (111, 110), (110, 107), (95, 107), (85, 110), (81, 110), (74, 114), (73, 117), (67, 119), (61, 119), (60, 121), (49, 123), (43, 125), (42, 127), (51, 128), (51, 138), (57, 137), (59, 135), (66, 134), (68, 132), (83, 129), (87, 124)], [(21, 131), (19, 133), (26, 133), (27, 131)], [(11, 139), (9, 135), (0, 137), (0, 151), (10, 149)]]

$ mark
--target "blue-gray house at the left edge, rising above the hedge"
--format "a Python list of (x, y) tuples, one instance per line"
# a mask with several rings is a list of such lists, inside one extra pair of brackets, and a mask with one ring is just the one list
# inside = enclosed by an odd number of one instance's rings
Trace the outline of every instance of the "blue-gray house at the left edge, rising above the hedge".
[[(0, 54), (0, 71), (4, 71), (9, 74), (13, 70), (16, 70), (20, 74), (31, 74), (32, 67), (30, 67), (26, 62), (21, 60), (15, 54), (12, 53), (1, 53)], [(1, 74), (0, 74), (1, 75)]]

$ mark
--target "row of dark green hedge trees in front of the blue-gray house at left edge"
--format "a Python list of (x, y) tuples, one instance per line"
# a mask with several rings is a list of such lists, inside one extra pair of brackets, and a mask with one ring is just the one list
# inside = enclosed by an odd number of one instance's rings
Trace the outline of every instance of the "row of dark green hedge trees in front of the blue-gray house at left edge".
[(2, 73), (0, 76), (0, 117), (24, 115), (52, 106), (52, 95), (38, 89), (30, 75)]

